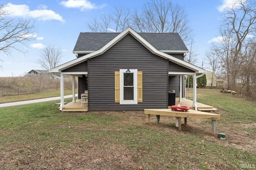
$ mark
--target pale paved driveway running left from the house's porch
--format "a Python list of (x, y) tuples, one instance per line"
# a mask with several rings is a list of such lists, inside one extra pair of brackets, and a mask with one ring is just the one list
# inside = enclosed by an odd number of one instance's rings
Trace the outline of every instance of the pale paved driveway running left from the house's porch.
[[(72, 96), (73, 96), (72, 94), (71, 94), (71, 95), (64, 96), (64, 99), (65, 99), (65, 98), (72, 98)], [(76, 94), (76, 96), (77, 96), (77, 94)], [(20, 101), (20, 102), (2, 103), (2, 104), (0, 104), (0, 107), (19, 106), (19, 105), (24, 105), (24, 104), (33, 104), (33, 103), (49, 102), (49, 101), (53, 101), (53, 100), (60, 100), (60, 96), (59, 96), (59, 97), (53, 97), (53, 98), (26, 100), (26, 101)]]

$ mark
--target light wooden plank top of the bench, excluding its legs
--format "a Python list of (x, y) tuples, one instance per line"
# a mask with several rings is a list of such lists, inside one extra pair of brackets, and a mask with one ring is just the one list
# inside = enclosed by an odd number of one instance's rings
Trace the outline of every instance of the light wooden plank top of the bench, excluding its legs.
[(196, 111), (196, 110), (181, 112), (181, 111), (172, 111), (171, 109), (144, 109), (144, 114), (220, 120), (220, 115), (218, 114), (207, 113), (207, 112)]

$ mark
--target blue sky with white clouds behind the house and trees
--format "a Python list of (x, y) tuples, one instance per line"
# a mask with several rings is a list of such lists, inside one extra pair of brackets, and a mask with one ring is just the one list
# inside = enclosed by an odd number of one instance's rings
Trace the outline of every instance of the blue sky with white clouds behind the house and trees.
[[(225, 6), (234, 0), (172, 0), (184, 6), (188, 25), (193, 30), (198, 52), (196, 65), (207, 64), (205, 52), (210, 42), (219, 36), (220, 17)], [(12, 51), (12, 56), (0, 52), (0, 77), (22, 76), (32, 69), (44, 70), (38, 64), (42, 50), (55, 46), (62, 51), (61, 64), (76, 59), (72, 53), (80, 32), (91, 32), (86, 23), (102, 14), (114, 12), (114, 6), (141, 9), (148, 0), (1, 0), (8, 4), (12, 17), (31, 18), (35, 21), (34, 41), (22, 47), (26, 53)], [(111, 28), (110, 28), (111, 29)]]

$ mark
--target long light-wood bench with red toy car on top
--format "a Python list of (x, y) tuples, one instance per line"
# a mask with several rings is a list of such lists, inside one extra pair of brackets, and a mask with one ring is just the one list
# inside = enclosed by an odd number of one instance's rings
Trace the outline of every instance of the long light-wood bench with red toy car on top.
[(148, 115), (148, 123), (150, 123), (150, 115), (174, 116), (178, 118), (178, 129), (181, 131), (181, 117), (184, 117), (184, 124), (187, 118), (212, 119), (212, 133), (216, 134), (216, 120), (220, 120), (220, 115), (207, 113), (197, 110), (189, 110), (187, 112), (172, 111), (171, 109), (144, 109), (144, 114)]

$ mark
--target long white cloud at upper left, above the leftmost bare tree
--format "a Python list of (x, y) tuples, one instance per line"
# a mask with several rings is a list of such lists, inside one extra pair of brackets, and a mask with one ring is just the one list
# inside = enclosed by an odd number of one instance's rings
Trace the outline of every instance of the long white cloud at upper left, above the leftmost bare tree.
[(4, 10), (12, 16), (18, 16), (18, 17), (31, 17), (38, 19), (39, 21), (47, 21), (47, 20), (58, 20), (61, 22), (64, 22), (62, 16), (57, 14), (56, 12), (52, 10), (46, 10), (47, 6), (46, 5), (40, 5), (38, 6), (38, 10), (30, 10), (29, 6), (27, 5), (15, 5), (8, 3), (5, 7)]

